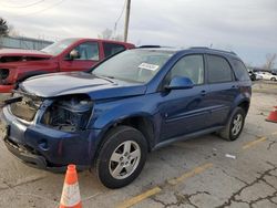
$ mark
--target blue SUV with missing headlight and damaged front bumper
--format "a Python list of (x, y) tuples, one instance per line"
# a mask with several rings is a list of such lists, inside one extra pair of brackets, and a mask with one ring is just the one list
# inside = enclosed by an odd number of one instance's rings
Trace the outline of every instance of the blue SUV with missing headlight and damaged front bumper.
[(134, 49), (90, 72), (31, 77), (2, 110), (8, 149), (25, 164), (95, 167), (109, 188), (133, 181), (147, 153), (217, 133), (235, 141), (252, 95), (243, 61), (207, 48)]

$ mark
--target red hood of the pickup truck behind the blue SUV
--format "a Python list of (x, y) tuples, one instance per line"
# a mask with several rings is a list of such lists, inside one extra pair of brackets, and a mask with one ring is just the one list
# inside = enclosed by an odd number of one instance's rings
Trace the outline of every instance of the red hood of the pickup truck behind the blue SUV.
[(0, 58), (2, 56), (33, 56), (33, 58), (52, 58), (52, 55), (42, 51), (23, 50), (23, 49), (0, 49)]

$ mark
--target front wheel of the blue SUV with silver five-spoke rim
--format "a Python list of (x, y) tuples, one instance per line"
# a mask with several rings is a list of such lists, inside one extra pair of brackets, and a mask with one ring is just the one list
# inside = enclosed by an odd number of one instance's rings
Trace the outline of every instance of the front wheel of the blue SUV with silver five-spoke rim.
[(116, 126), (104, 141), (95, 166), (100, 181), (113, 189), (131, 184), (141, 174), (147, 156), (143, 134), (130, 126)]

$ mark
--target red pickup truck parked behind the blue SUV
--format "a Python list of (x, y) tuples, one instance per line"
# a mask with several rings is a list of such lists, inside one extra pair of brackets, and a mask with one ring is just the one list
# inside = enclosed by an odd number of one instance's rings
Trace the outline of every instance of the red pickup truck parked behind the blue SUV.
[(0, 93), (9, 93), (17, 83), (53, 72), (85, 71), (134, 44), (99, 39), (64, 39), (41, 51), (0, 50)]

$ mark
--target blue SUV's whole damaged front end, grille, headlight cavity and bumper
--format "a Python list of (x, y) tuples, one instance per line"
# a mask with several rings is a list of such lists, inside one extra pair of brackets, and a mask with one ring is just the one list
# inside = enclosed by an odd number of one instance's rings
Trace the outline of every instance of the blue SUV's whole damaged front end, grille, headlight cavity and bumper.
[(88, 95), (43, 98), (21, 91), (6, 100), (1, 119), (7, 148), (27, 165), (63, 170), (91, 166), (95, 132), (88, 128), (93, 102)]

